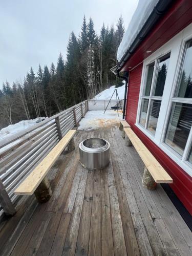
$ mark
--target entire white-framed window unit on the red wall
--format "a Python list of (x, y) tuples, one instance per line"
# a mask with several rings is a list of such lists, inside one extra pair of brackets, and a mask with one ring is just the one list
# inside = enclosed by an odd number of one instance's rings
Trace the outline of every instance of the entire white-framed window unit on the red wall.
[(136, 126), (192, 177), (192, 24), (143, 61)]

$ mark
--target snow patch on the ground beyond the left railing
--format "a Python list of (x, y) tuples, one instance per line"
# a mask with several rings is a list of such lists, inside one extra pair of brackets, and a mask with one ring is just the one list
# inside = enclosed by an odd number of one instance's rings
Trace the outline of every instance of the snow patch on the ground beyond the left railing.
[(10, 124), (9, 126), (3, 128), (0, 130), (0, 139), (4, 139), (8, 135), (13, 135), (15, 133), (18, 133), (20, 131), (23, 131), (34, 124), (36, 124), (37, 120), (46, 119), (46, 117), (37, 117), (35, 119), (31, 120), (23, 120), (15, 124)]

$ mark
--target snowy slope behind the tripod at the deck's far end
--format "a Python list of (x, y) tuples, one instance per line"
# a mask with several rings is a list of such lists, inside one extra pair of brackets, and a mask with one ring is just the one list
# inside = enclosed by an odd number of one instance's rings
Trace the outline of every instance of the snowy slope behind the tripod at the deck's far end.
[[(119, 99), (124, 99), (124, 81), (123, 86), (117, 88), (117, 93), (119, 96)], [(106, 89), (96, 95), (93, 99), (111, 99), (111, 96), (115, 90), (115, 86), (111, 86), (109, 89)], [(114, 93), (112, 99), (116, 99), (116, 93)]]

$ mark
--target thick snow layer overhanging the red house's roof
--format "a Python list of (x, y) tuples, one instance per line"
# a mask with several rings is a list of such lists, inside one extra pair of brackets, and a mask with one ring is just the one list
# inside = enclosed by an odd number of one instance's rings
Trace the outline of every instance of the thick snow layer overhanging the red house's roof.
[(133, 14), (130, 24), (124, 33), (117, 51), (117, 60), (120, 62), (126, 51), (130, 48), (147, 18), (152, 13), (159, 0), (139, 0), (137, 9)]

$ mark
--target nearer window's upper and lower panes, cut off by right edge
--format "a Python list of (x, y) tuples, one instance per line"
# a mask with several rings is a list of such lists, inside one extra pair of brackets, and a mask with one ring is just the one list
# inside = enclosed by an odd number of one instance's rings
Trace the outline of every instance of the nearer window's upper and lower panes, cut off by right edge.
[[(171, 99), (171, 110), (168, 118), (164, 142), (182, 158), (192, 161), (184, 152), (192, 124), (192, 40), (185, 44), (182, 64), (176, 84), (174, 97)], [(186, 101), (187, 98), (187, 101)], [(190, 145), (189, 145), (190, 146)]]

